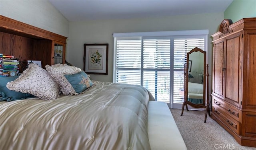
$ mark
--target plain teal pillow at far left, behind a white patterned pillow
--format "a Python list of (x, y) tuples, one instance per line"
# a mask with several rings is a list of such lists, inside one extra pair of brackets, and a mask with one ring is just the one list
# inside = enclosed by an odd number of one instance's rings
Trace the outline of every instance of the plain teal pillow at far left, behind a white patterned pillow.
[(18, 99), (35, 97), (32, 94), (16, 92), (6, 88), (8, 82), (14, 81), (18, 76), (0, 77), (0, 101), (15, 101)]

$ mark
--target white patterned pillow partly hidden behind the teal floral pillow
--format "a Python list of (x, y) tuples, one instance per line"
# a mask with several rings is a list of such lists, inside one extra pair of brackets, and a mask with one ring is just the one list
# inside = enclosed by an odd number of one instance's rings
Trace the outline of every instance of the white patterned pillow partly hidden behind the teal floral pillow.
[(65, 78), (65, 74), (76, 74), (81, 72), (80, 68), (75, 66), (68, 66), (67, 64), (55, 64), (55, 65), (46, 65), (46, 70), (49, 74), (54, 78), (54, 80), (60, 86), (60, 90), (62, 91), (63, 95), (70, 95), (70, 91), (73, 90), (73, 87)]

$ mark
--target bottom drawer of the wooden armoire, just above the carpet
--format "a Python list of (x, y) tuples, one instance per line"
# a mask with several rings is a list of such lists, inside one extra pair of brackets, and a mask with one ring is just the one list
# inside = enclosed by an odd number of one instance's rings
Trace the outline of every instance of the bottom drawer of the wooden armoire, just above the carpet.
[(232, 119), (232, 117), (227, 116), (221, 109), (218, 107), (212, 107), (212, 112), (224, 123), (228, 128), (236, 132), (238, 135), (240, 135), (240, 123), (236, 121), (235, 119)]

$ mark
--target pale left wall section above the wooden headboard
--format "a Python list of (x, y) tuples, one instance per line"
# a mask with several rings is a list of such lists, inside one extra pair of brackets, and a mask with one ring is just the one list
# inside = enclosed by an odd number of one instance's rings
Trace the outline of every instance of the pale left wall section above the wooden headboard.
[(0, 14), (68, 37), (68, 20), (48, 0), (0, 0)]

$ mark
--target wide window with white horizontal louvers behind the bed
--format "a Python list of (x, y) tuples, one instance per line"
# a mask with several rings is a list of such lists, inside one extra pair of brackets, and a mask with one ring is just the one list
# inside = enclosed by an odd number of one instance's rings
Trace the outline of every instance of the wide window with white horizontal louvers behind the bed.
[(204, 50), (207, 35), (208, 30), (114, 33), (114, 82), (142, 85), (157, 101), (182, 103), (186, 53)]

